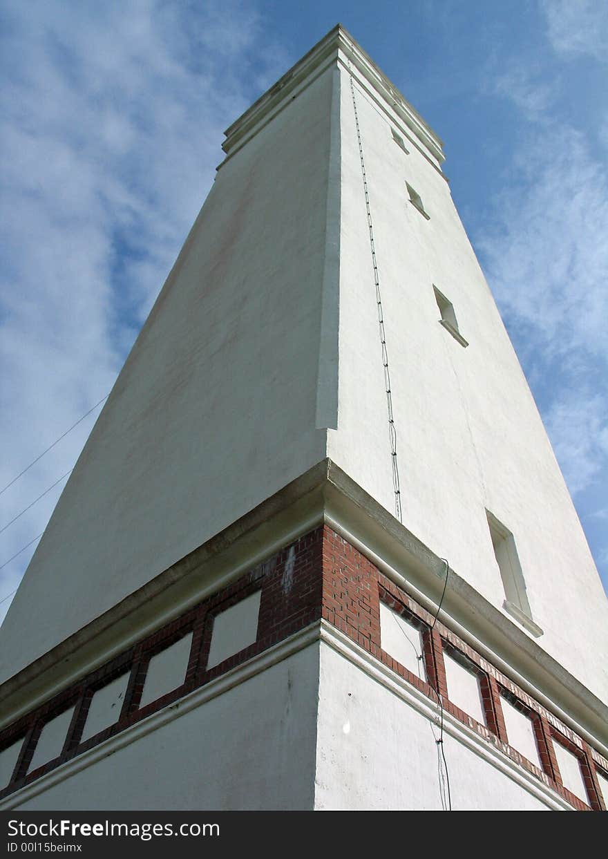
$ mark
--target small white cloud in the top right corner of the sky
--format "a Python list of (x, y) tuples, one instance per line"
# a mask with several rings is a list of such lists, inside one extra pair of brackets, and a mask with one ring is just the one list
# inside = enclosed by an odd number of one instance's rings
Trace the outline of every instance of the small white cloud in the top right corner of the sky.
[(602, 0), (542, 0), (540, 5), (556, 52), (608, 62), (608, 7)]

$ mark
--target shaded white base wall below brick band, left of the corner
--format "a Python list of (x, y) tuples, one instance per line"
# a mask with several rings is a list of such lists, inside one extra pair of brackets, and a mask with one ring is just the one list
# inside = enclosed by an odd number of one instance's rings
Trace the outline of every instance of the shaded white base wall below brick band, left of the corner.
[(311, 809), (318, 684), (314, 644), (20, 808)]

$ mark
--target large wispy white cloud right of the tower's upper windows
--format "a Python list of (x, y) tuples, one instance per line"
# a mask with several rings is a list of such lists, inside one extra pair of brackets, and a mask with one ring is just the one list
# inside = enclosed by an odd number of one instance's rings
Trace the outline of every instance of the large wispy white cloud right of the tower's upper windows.
[(477, 246), (514, 326), (546, 356), (608, 361), (608, 180), (581, 133), (543, 125), (515, 157), (513, 181)]

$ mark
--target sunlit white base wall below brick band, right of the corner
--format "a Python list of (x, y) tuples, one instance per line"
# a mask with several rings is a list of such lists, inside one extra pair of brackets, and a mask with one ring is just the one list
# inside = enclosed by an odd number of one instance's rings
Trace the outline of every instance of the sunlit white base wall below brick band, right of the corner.
[[(314, 807), (441, 810), (439, 729), (321, 644)], [(542, 809), (544, 803), (444, 734), (454, 809)]]

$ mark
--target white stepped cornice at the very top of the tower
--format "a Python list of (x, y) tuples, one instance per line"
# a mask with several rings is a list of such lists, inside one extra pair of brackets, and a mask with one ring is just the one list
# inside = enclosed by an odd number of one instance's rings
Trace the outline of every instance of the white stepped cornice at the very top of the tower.
[(363, 51), (350, 33), (337, 24), (304, 57), (287, 71), (283, 77), (258, 98), (224, 132), (226, 140), (222, 149), (228, 156), (234, 155), (250, 137), (286, 107), (331, 64), (342, 64), (352, 72), (356, 82), (380, 104), (387, 113), (395, 115), (404, 125), (416, 145), (426, 150), (437, 164), (445, 160), (443, 142), (423, 120), (414, 107), (404, 99), (386, 75)]

